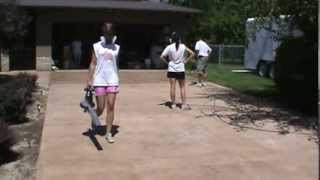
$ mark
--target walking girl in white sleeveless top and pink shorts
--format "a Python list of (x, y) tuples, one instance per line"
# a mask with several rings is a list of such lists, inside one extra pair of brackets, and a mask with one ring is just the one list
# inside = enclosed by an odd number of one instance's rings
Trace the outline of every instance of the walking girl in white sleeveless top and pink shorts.
[(106, 140), (113, 143), (111, 134), (114, 121), (114, 107), (119, 92), (119, 76), (117, 59), (120, 46), (115, 44), (113, 24), (105, 22), (102, 25), (103, 37), (93, 44), (93, 52), (89, 67), (88, 87), (95, 88), (97, 115), (100, 116), (107, 104)]

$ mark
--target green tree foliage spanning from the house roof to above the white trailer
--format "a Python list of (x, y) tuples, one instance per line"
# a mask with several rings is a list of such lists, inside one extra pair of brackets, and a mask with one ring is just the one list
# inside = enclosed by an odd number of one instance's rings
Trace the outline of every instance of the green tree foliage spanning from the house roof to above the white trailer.
[[(189, 36), (204, 35), (212, 43), (244, 44), (245, 22), (257, 17), (263, 23), (266, 17), (290, 15), (308, 35), (315, 36), (317, 28), (316, 0), (170, 0), (172, 4), (202, 10), (194, 19)], [(313, 38), (313, 37), (310, 38)], [(189, 37), (190, 38), (190, 37)]]

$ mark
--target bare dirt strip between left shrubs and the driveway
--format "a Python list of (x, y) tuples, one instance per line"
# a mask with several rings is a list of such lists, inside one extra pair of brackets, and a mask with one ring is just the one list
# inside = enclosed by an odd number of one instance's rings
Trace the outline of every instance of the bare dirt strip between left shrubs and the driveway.
[(14, 154), (15, 161), (0, 166), (1, 179), (35, 179), (47, 97), (48, 88), (38, 86), (32, 96), (33, 103), (27, 107), (26, 118), (28, 121), (9, 127), (16, 142), (10, 152)]

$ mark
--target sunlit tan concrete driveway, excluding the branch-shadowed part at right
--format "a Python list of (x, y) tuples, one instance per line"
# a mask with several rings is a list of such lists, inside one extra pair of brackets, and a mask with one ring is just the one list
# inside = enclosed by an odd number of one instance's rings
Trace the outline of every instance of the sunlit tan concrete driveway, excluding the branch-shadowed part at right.
[(165, 106), (165, 72), (120, 74), (114, 144), (88, 132), (89, 116), (79, 108), (86, 72), (51, 74), (38, 180), (318, 178), (318, 145), (305, 135), (238, 132), (214, 116), (203, 116), (206, 91), (217, 86), (188, 86), (193, 109), (172, 110)]

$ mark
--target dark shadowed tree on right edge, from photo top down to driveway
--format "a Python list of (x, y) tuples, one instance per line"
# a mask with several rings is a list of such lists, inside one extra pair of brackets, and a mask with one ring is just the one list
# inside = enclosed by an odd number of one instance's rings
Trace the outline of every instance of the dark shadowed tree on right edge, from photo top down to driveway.
[(303, 111), (317, 112), (318, 2), (276, 1), (274, 16), (290, 14), (302, 37), (284, 36), (277, 49), (275, 82), (282, 96)]

